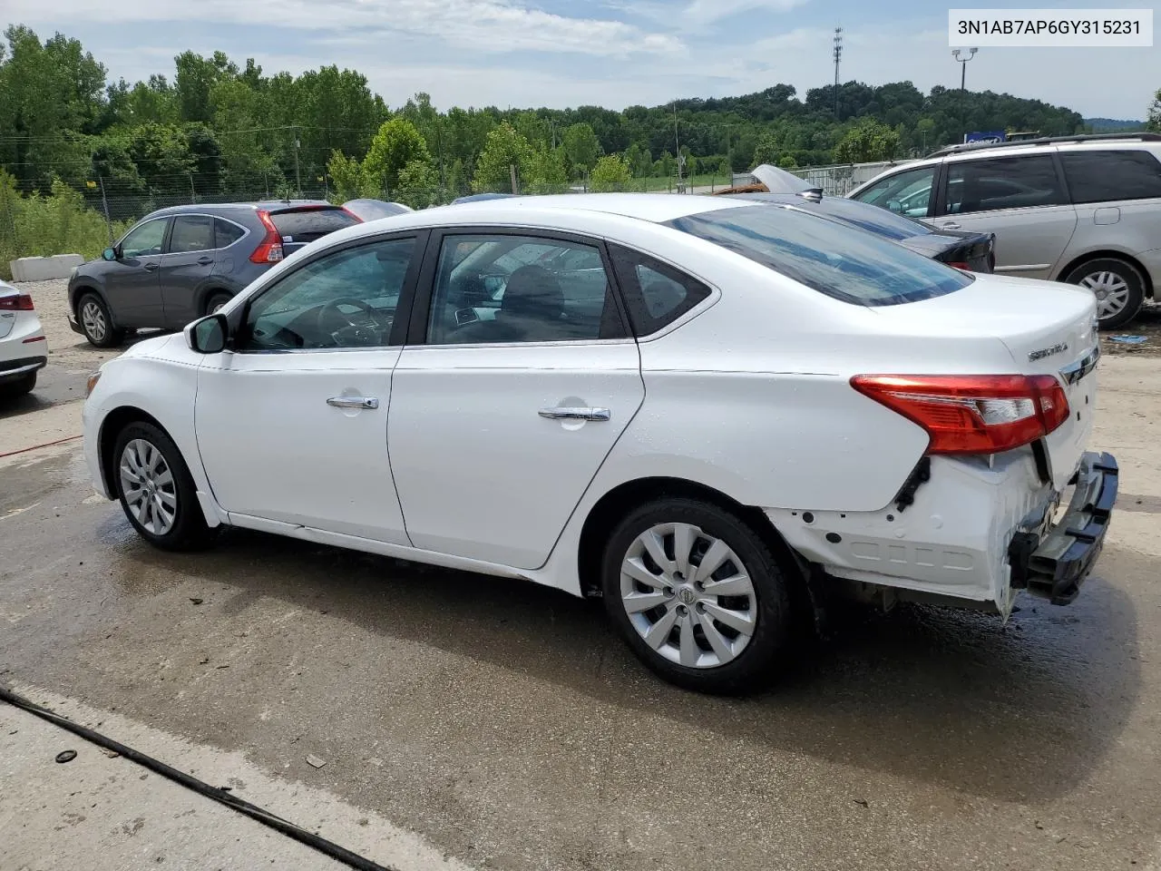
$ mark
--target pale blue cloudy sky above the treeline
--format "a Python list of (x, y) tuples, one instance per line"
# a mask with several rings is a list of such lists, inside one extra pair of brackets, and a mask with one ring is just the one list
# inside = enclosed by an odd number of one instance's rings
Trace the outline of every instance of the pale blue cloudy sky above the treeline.
[[(1043, 0), (1041, 0), (1043, 2)], [(985, 0), (987, 8), (1032, 2)], [(10, 23), (79, 38), (109, 79), (173, 75), (174, 55), (225, 51), (267, 73), (324, 64), (362, 72), (390, 106), (419, 91), (450, 106), (611, 109), (841, 79), (958, 87), (949, 6), (931, 0), (3, 0)], [(956, 8), (971, 7), (966, 0)], [(1148, 8), (1087, 0), (1052, 8)], [(1158, 16), (1161, 19), (1161, 16)], [(985, 48), (969, 89), (1067, 106), (1086, 117), (1144, 118), (1161, 87), (1154, 48)]]

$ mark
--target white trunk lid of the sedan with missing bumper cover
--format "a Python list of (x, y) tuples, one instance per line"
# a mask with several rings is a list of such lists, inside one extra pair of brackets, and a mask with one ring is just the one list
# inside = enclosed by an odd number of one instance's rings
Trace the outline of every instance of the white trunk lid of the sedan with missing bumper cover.
[[(1065, 388), (1069, 415), (1045, 439), (1053, 485), (1072, 478), (1093, 432), (1096, 410), (1096, 300), (1053, 281), (976, 275), (952, 294), (877, 309), (901, 332), (947, 338), (991, 337), (1011, 352), (1011, 373), (1052, 375)], [(930, 373), (938, 374), (938, 373)]]

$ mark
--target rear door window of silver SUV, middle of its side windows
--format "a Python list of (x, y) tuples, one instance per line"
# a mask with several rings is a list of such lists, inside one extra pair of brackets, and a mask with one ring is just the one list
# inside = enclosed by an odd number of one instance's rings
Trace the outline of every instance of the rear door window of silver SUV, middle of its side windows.
[(1065, 202), (1048, 154), (967, 160), (947, 166), (949, 215)]

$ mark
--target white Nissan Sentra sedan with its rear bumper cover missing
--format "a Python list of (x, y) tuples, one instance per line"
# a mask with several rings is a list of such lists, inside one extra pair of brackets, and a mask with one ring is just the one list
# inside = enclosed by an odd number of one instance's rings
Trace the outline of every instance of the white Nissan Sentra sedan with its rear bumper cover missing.
[(831, 591), (1076, 596), (1117, 491), (1094, 315), (741, 200), (459, 204), (104, 363), (85, 452), (159, 547), (241, 526), (603, 596), (658, 674), (741, 691)]

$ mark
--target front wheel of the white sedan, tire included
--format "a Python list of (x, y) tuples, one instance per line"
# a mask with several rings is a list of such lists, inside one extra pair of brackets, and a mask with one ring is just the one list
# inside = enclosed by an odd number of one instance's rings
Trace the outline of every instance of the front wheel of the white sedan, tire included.
[(137, 533), (163, 550), (197, 550), (212, 540), (197, 487), (173, 440), (144, 420), (129, 424), (114, 445), (121, 508)]

